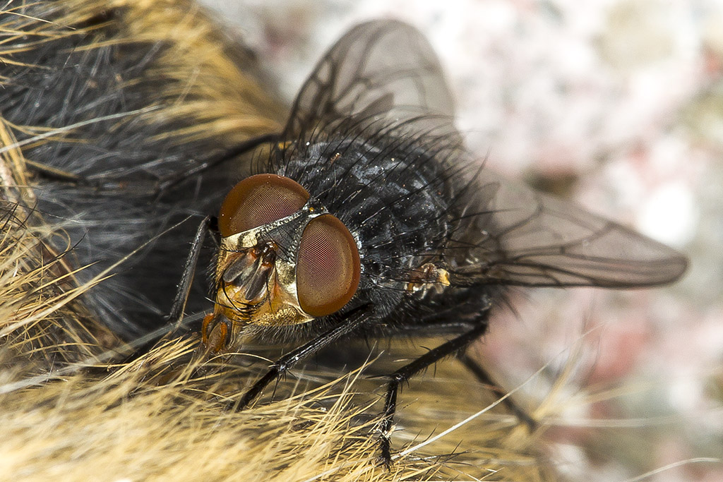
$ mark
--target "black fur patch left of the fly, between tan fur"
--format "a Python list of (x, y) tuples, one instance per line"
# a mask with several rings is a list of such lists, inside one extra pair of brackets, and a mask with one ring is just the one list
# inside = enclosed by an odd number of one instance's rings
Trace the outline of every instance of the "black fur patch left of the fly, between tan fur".
[[(52, 22), (67, 13), (62, 2), (39, 2), (20, 12)], [(179, 174), (183, 178), (182, 173), (228, 149), (228, 139), (179, 139), (174, 132), (191, 126), (194, 119), (152, 117), (174, 102), (195, 99), (164, 94), (166, 82), (176, 82), (164, 79), (163, 64), (158, 64), (168, 44), (128, 41), (124, 9), (101, 13), (74, 25), (49, 24), (48, 30), (64, 34), (61, 38), (29, 35), (26, 41), (37, 45), (13, 56), (25, 65), (3, 66), (7, 79), (0, 90), (0, 108), (4, 119), (17, 126), (64, 129), (86, 123), (57, 132), (49, 142), (33, 142), (24, 154), (77, 176), (77, 182), (64, 182), (41, 172), (35, 191), (38, 210), (48, 222), (61, 225), (76, 246), (74, 265), (90, 265), (80, 272), (81, 281), (153, 240), (85, 296), (103, 322), (132, 337), (163, 323), (197, 223), (218, 211), (243, 168), (237, 161), (225, 163), (158, 191), (159, 182)], [(6, 15), (3, 21), (9, 27), (22, 22), (27, 32), (32, 31), (32, 20)], [(82, 30), (89, 26), (95, 28)], [(124, 42), (96, 45), (116, 38)], [(103, 120), (106, 116), (111, 119)], [(23, 142), (45, 132), (40, 129), (17, 129), (15, 134)], [(176, 223), (181, 225), (165, 233)], [(206, 250), (203, 265), (210, 264), (210, 257)], [(208, 282), (198, 278), (189, 311), (209, 305)]]

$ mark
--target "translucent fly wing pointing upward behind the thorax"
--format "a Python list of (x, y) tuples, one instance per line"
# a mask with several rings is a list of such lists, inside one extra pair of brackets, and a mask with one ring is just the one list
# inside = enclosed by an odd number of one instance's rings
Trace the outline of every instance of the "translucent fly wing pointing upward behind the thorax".
[[(456, 134), (453, 99), (432, 47), (414, 27), (393, 20), (349, 30), (301, 87), (286, 139), (333, 131), (408, 125), (416, 132)], [(346, 129), (344, 129), (346, 130)]]

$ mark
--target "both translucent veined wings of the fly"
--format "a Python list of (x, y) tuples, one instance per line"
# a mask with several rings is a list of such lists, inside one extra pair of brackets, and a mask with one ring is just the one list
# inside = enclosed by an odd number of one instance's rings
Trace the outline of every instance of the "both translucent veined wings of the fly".
[(453, 194), (461, 214), (445, 247), (453, 284), (625, 288), (683, 274), (687, 260), (677, 251), (581, 207), (487, 169), (469, 181), (453, 114), (439, 61), (422, 34), (401, 22), (373, 21), (354, 27), (322, 57), (301, 87), (284, 138), (406, 136), (448, 165), (453, 190), (466, 186)]

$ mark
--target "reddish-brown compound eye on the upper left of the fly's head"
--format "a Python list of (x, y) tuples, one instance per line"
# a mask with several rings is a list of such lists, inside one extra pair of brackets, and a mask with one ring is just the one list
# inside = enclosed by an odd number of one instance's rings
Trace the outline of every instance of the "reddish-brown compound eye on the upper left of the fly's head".
[(276, 174), (257, 174), (236, 184), (223, 199), (218, 230), (224, 238), (294, 214), (309, 200), (301, 184)]

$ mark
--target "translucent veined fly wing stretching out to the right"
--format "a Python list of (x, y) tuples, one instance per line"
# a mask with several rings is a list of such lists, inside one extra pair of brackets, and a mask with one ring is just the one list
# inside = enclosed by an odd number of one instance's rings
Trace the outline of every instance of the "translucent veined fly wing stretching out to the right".
[(453, 284), (633, 288), (685, 272), (683, 254), (623, 225), (486, 169), (477, 178), (450, 246)]

